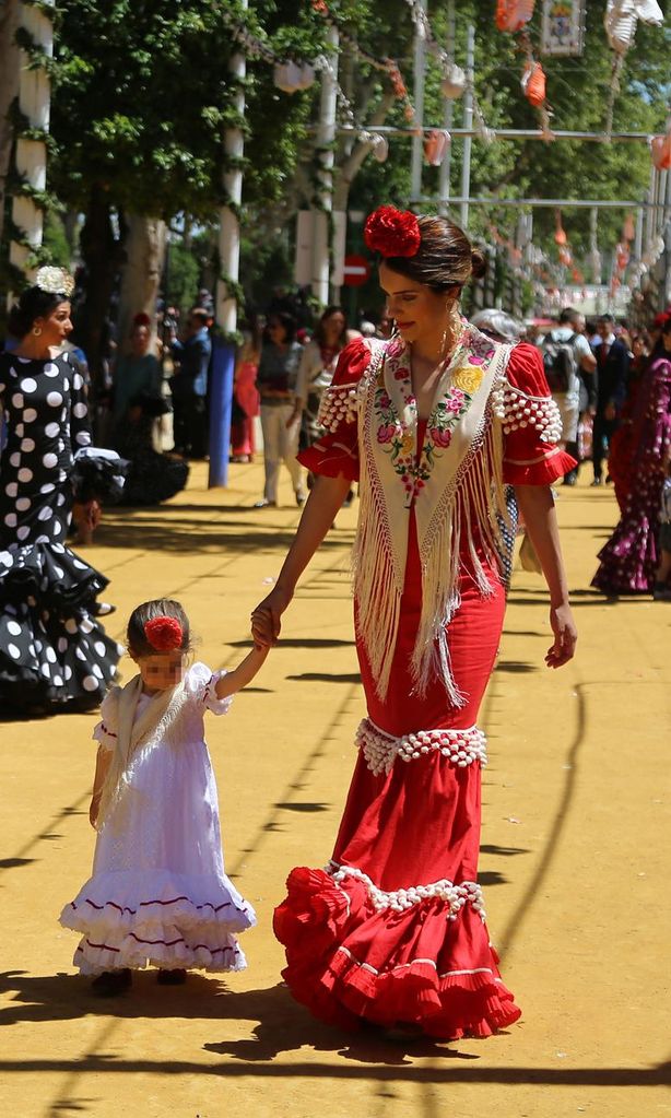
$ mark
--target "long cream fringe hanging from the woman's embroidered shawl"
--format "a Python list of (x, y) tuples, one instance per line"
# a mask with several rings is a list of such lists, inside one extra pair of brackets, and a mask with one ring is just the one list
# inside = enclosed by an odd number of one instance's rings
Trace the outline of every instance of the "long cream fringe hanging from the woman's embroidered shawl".
[[(472, 334), (482, 338), (470, 329)], [(446, 633), (446, 626), (460, 606), (461, 533), (464, 530), (467, 533), (469, 553), (480, 591), (490, 595), (494, 588), (478, 556), (476, 541), (484, 549), (486, 560), (494, 567), (500, 566), (501, 537), (497, 514), (509, 523), (503, 494), (501, 425), (494, 418), (491, 405), (491, 391), (500, 383), (509, 357), (510, 347), (497, 347), (486, 377), (488, 383), (483, 385), (488, 400), (482, 418), (461, 463), (433, 509), (423, 537), (419, 534), (418, 523), (422, 616), (412, 659), (413, 686), (419, 694), (424, 694), (437, 673), (443, 679), (454, 707), (463, 707), (465, 703), (452, 673)], [(377, 351), (374, 350), (370, 366), (360, 382), (360, 511), (353, 552), (357, 629), (365, 644), (381, 699), (385, 699), (388, 691), (398, 636), (408, 531), (407, 520), (405, 523), (391, 524), (376, 461), (374, 400), (384, 362), (385, 349), (380, 347)], [(391, 387), (389, 380), (386, 380), (386, 387)], [(440, 472), (440, 463), (434, 468)], [(403, 486), (400, 479), (396, 477), (394, 482), (399, 487)], [(401, 548), (399, 532), (405, 533)]]

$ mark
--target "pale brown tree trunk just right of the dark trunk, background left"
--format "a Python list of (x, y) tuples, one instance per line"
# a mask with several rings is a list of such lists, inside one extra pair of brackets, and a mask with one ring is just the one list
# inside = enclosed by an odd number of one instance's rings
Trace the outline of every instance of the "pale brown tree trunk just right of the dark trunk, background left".
[(125, 352), (133, 319), (149, 315), (152, 352), (157, 330), (157, 296), (166, 258), (166, 222), (157, 217), (126, 215), (125, 264), (119, 304), (119, 349)]

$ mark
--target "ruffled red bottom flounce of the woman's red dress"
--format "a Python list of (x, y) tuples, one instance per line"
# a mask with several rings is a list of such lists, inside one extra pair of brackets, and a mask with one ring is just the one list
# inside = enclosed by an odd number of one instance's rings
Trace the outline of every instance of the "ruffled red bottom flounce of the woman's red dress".
[[(274, 920), (286, 949), (282, 974), (296, 1001), (328, 1024), (356, 1029), (361, 1018), (387, 1027), (403, 1022), (419, 1025), (429, 1036), (457, 1040), (491, 1036), (520, 1017), (484, 928), (480, 947), (473, 948), (480, 956), (473, 966), (448, 965), (440, 973), (442, 959), (462, 956), (465, 961), (476, 938), (473, 927), (481, 923), (478, 915), (471, 927), (465, 912), (448, 921), (438, 900), (424, 902), (419, 918), (415, 909), (380, 913), (360, 882), (344, 890), (320, 870), (294, 870), (287, 890)], [(363, 956), (371, 942), (376, 967), (357, 955), (357, 944)]]

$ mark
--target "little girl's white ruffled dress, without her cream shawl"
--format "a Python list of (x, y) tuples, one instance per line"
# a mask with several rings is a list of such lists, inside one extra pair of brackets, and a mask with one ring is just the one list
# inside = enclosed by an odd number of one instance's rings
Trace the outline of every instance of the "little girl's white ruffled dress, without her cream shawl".
[[(186, 674), (169, 727), (133, 755), (122, 795), (98, 834), (93, 874), (60, 913), (81, 932), (74, 964), (83, 974), (148, 964), (166, 969), (240, 970), (236, 935), (256, 923), (254, 909), (224, 871), (217, 787), (204, 714), (225, 714), (205, 664)], [(116, 689), (119, 691), (119, 689)], [(102, 707), (94, 738), (113, 749), (119, 695)], [(142, 711), (142, 699), (135, 719)]]

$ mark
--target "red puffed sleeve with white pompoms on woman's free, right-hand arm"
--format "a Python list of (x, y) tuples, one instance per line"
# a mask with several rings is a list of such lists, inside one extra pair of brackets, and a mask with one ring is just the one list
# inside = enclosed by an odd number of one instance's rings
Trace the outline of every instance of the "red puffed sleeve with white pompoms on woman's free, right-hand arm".
[(497, 413), (503, 424), (503, 481), (509, 485), (549, 485), (576, 462), (557, 443), (561, 418), (536, 345), (516, 345)]

